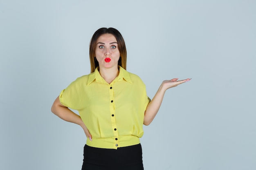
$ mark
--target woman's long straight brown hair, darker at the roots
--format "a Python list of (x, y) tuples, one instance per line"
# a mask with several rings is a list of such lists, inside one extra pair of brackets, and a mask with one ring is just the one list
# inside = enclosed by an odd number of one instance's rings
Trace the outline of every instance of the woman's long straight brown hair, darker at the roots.
[(101, 35), (107, 34), (107, 33), (114, 35), (115, 38), (117, 39), (117, 47), (120, 53), (118, 65), (126, 69), (127, 53), (126, 53), (124, 38), (122, 37), (121, 33), (114, 28), (100, 28), (92, 35), (92, 39), (90, 42), (89, 53), (90, 53), (91, 73), (95, 71), (95, 68), (97, 68), (97, 66), (99, 66), (99, 62), (96, 60), (96, 57), (95, 57), (97, 40)]

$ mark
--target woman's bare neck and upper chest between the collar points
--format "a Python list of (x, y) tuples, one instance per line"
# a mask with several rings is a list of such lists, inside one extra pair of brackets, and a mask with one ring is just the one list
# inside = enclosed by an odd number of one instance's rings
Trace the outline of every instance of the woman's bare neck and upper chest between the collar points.
[(119, 75), (119, 70), (118, 68), (99, 68), (99, 73), (110, 84)]

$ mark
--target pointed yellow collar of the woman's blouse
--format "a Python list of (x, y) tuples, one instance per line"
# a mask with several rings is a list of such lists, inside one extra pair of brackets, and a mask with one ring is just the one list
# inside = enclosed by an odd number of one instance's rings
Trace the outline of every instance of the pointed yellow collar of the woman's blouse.
[[(119, 68), (119, 75), (113, 80), (113, 82), (118, 82), (118, 81), (122, 81), (125, 80), (126, 82), (132, 83), (132, 80), (130, 78), (130, 75), (128, 73), (128, 71), (126, 71), (124, 68), (122, 68), (121, 66), (118, 66)], [(89, 75), (88, 78), (88, 82), (87, 82), (87, 86), (90, 85), (93, 81), (99, 82), (99, 83), (103, 83), (106, 82), (100, 75), (99, 73), (99, 67), (97, 67), (95, 69), (95, 71), (93, 73), (91, 73)]]

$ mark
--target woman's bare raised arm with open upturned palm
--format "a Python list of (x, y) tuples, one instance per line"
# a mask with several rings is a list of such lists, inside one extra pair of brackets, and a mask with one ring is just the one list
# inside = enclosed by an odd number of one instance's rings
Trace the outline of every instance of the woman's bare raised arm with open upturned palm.
[(176, 87), (179, 84), (182, 84), (184, 82), (188, 82), (191, 79), (184, 79), (177, 81), (178, 79), (171, 79), (171, 80), (164, 80), (160, 87), (157, 90), (157, 93), (155, 93), (155, 96), (153, 99), (149, 102), (145, 114), (144, 114), (144, 125), (149, 125), (153, 119), (155, 118), (155, 115), (157, 115), (157, 112), (162, 104), (164, 93), (168, 88)]

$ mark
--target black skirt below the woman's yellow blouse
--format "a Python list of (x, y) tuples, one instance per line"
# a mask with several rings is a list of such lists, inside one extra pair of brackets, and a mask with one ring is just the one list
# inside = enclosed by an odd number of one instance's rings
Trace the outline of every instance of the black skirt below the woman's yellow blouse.
[(141, 144), (117, 149), (85, 145), (82, 170), (144, 170)]

